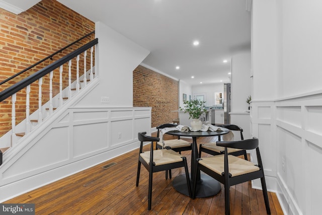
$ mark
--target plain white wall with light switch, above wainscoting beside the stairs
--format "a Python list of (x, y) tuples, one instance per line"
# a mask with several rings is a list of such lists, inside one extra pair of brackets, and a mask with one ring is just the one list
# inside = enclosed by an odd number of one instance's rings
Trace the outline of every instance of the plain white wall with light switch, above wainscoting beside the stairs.
[[(149, 51), (102, 22), (96, 23), (95, 36), (99, 38), (97, 63), (101, 83), (78, 105), (132, 107), (133, 70)], [(102, 96), (109, 97), (110, 103), (102, 104)]]

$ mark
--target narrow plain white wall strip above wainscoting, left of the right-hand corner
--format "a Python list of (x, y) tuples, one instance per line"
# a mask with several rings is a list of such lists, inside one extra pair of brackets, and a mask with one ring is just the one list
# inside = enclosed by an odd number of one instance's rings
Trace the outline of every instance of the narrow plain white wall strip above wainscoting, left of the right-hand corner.
[[(252, 71), (253, 100), (277, 98), (277, 6), (273, 1), (253, 1)], [(280, 74), (279, 74), (280, 75)], [(279, 77), (280, 78), (280, 77)]]

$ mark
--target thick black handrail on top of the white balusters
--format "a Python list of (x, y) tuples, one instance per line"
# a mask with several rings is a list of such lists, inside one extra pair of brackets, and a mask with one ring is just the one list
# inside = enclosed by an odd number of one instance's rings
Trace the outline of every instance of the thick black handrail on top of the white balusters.
[(91, 42), (83, 45), (82, 47), (76, 49), (75, 51), (67, 54), (66, 56), (60, 58), (59, 60), (47, 65), (46, 67), (40, 69), (35, 74), (27, 77), (26, 79), (18, 82), (17, 84), (7, 88), (6, 90), (0, 92), (0, 102), (4, 101), (5, 99), (9, 98), (13, 94), (17, 93), (18, 91), (22, 90), (23, 88), (27, 87), (28, 85), (34, 83), (38, 79), (44, 77), (48, 73), (50, 73), (55, 68), (59, 67), (60, 65), (68, 62), (70, 59), (76, 57), (77, 55), (81, 54), (82, 52), (86, 51), (87, 49), (91, 48), (92, 46), (98, 43), (98, 38), (92, 40)]

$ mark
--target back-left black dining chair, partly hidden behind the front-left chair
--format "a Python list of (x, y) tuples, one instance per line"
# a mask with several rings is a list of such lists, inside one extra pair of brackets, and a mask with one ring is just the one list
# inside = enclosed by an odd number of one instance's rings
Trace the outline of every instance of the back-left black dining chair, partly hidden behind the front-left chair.
[[(157, 133), (156, 137), (160, 136), (160, 131), (164, 128), (169, 128), (169, 127), (176, 127), (178, 125), (176, 124), (162, 124), (156, 127)], [(163, 142), (156, 142), (155, 149), (172, 149), (175, 152), (181, 152), (183, 151), (189, 151), (192, 149), (191, 147), (191, 142), (188, 142), (186, 140), (180, 139), (180, 136), (178, 136), (177, 139), (168, 139), (168, 140), (163, 140)], [(169, 170), (169, 178), (172, 178), (171, 176), (171, 170)], [(168, 171), (166, 171), (166, 179), (168, 179)]]

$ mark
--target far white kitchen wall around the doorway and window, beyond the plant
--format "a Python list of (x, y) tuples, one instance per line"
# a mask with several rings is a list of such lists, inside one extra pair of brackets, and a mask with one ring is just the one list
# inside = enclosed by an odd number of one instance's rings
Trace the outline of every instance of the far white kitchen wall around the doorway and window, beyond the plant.
[[(215, 104), (215, 93), (220, 92), (223, 93), (223, 83), (220, 84), (201, 84), (201, 85), (193, 85), (192, 93), (193, 94), (206, 94), (207, 103), (206, 106), (213, 106)], [(223, 94), (222, 94), (223, 96)]]

